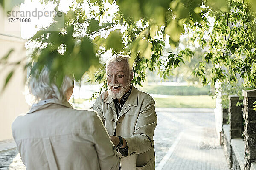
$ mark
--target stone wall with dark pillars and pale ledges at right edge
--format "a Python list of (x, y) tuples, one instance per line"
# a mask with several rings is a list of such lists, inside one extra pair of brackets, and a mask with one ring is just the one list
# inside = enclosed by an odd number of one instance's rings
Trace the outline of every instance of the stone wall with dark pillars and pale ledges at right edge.
[(256, 163), (256, 89), (243, 91), (243, 96), (243, 106), (236, 106), (241, 102), (238, 96), (229, 96), (229, 125), (222, 126), (224, 151), (233, 170), (251, 170)]

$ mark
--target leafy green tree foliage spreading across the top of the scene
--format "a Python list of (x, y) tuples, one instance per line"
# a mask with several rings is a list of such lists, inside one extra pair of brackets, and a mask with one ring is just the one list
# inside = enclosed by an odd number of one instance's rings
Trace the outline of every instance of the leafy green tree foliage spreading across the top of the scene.
[[(58, 11), (61, 2), (54, 2)], [(89, 13), (84, 4), (89, 5)], [(55, 17), (55, 23), (31, 38), (38, 47), (27, 66), (33, 65), (33, 74), (47, 65), (57, 82), (65, 74), (74, 74), (79, 80), (87, 71), (99, 68), (93, 79), (104, 82), (102, 88), (107, 88), (99, 54), (112, 50), (131, 55), (137, 63), (133, 83), (141, 85), (146, 68), (158, 70), (166, 78), (184, 63), (184, 57), (193, 56), (190, 48), (174, 53), (180, 35), (193, 32), (191, 45), (198, 43), (209, 49), (194, 71), (204, 85), (237, 81), (237, 74), (254, 85), (255, 6), (253, 0), (76, 0), (67, 13), (62, 12), (64, 20)], [(172, 48), (164, 56), (166, 39)]]

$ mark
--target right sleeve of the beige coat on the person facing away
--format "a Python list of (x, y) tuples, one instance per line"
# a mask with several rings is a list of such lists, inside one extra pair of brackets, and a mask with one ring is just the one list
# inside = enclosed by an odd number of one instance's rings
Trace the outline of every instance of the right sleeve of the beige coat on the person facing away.
[(119, 170), (120, 158), (100, 117), (95, 114), (93, 139), (101, 170)]

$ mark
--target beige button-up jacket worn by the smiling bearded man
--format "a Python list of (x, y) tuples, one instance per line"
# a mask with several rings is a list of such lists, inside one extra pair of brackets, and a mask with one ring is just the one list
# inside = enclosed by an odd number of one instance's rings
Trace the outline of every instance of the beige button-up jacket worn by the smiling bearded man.
[(119, 117), (108, 91), (102, 93), (93, 105), (99, 113), (110, 135), (116, 129), (116, 135), (125, 138), (128, 145), (128, 157), (121, 157), (122, 170), (154, 170), (154, 129), (157, 115), (154, 99), (132, 86), (131, 94), (125, 102)]

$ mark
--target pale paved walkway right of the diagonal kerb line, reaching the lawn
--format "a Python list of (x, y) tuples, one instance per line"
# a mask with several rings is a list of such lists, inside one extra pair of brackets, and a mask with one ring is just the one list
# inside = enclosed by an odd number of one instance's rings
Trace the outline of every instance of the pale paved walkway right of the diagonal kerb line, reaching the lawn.
[[(168, 110), (160, 111), (164, 114)], [(157, 163), (156, 170), (229, 170), (222, 147), (218, 145), (213, 112), (207, 109), (173, 111), (168, 116), (175, 120), (179, 115), (182, 132)]]

